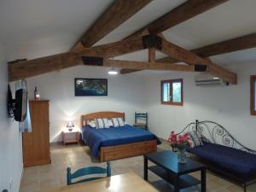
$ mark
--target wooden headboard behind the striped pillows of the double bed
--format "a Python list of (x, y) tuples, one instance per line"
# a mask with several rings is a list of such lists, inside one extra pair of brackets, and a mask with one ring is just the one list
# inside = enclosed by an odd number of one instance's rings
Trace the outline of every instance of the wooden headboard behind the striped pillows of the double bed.
[(81, 127), (87, 125), (88, 120), (93, 120), (97, 118), (115, 118), (120, 117), (125, 120), (125, 113), (113, 112), (113, 111), (102, 111), (96, 113), (89, 113), (81, 115)]

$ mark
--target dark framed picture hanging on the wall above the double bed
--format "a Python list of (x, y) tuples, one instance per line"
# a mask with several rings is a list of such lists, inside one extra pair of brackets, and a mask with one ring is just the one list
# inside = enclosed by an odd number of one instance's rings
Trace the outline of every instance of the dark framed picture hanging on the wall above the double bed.
[(75, 79), (75, 96), (108, 96), (108, 79)]

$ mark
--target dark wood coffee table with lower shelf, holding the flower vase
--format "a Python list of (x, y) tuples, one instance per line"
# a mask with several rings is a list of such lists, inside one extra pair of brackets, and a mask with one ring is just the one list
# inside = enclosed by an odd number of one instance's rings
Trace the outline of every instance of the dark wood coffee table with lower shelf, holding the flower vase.
[[(156, 166), (148, 167), (148, 160)], [(148, 181), (148, 170), (174, 186), (174, 192), (201, 183), (201, 192), (206, 192), (206, 166), (187, 158), (186, 163), (177, 162), (177, 154), (166, 150), (152, 154), (144, 154), (144, 179)], [(189, 175), (191, 172), (201, 171), (201, 181)]]

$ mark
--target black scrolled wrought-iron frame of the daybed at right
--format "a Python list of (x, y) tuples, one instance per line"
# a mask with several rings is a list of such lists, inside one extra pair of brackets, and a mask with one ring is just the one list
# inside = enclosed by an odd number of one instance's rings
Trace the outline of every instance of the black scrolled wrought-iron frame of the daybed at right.
[[(236, 140), (235, 137), (233, 137), (229, 131), (227, 131), (224, 126), (219, 125), (218, 123), (215, 123), (213, 121), (204, 120), (199, 121), (195, 120), (195, 122), (190, 123), (187, 125), (183, 131), (180, 131), (177, 135), (183, 133), (184, 131), (196, 131), (198, 133), (201, 133), (202, 136), (205, 137), (205, 139), (208, 140), (208, 142), (216, 143), (220, 145), (224, 145), (230, 148), (236, 148), (243, 151), (246, 151), (249, 154), (256, 154), (256, 151), (247, 148), (246, 146), (242, 145), (240, 142)], [(172, 148), (174, 150), (174, 148)], [(207, 166), (207, 170), (210, 172), (214, 172), (218, 174), (220, 177), (224, 177), (229, 179), (232, 182), (241, 184), (244, 192), (247, 191), (247, 186), (251, 185), (253, 183), (256, 183), (256, 175), (254, 177), (251, 177), (249, 179), (245, 179), (239, 175), (237, 175), (234, 172), (230, 172), (230, 170), (224, 169), (224, 168), (218, 168), (218, 165), (214, 165), (207, 160), (202, 160), (198, 158), (196, 155), (192, 154), (192, 157), (196, 160), (201, 161)]]

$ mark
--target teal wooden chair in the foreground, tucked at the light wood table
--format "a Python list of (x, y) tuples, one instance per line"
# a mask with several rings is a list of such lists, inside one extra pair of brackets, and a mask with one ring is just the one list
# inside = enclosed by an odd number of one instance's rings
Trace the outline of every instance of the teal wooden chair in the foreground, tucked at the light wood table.
[(83, 176), (88, 176), (88, 175), (94, 175), (94, 174), (105, 174), (107, 173), (107, 177), (111, 176), (111, 166), (110, 162), (107, 163), (107, 168), (102, 168), (99, 166), (90, 166), (90, 167), (85, 167), (82, 169), (79, 169), (78, 171), (74, 172), (73, 174), (71, 173), (71, 168), (67, 167), (67, 185), (70, 184), (75, 184), (75, 183), (83, 183), (91, 180), (96, 180), (102, 177), (89, 177), (85, 178), (76, 182), (72, 182), (74, 178), (78, 177), (83, 177)]

